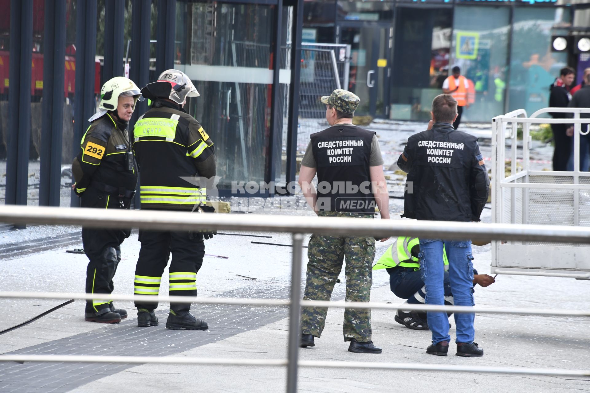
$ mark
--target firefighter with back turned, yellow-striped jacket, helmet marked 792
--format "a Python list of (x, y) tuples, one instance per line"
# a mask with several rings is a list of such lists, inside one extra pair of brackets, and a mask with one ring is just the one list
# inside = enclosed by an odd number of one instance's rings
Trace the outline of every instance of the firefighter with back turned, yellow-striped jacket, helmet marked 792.
[[(215, 177), (213, 141), (201, 124), (183, 109), (186, 97), (199, 93), (186, 74), (162, 72), (142, 89), (151, 108), (135, 124), (135, 154), (142, 171), (142, 209), (214, 212), (205, 206), (202, 179)], [(169, 267), (170, 295), (196, 296), (196, 273), (205, 255), (203, 239), (214, 232), (139, 231), (141, 249), (135, 269), (135, 293), (158, 295), (162, 274)], [(158, 325), (157, 302), (135, 302), (137, 326)], [(171, 302), (167, 329), (207, 330), (207, 322), (189, 311), (191, 303)]]

